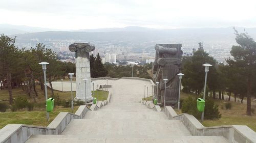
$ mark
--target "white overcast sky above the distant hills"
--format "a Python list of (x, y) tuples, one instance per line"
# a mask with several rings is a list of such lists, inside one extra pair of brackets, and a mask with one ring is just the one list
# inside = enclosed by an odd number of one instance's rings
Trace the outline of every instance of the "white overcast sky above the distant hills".
[(256, 27), (255, 0), (0, 0), (0, 24), (62, 30)]

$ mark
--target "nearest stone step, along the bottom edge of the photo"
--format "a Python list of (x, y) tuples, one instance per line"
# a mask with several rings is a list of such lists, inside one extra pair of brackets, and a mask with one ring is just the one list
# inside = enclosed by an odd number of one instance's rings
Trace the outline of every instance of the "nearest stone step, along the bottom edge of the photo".
[(161, 142), (189, 142), (189, 143), (228, 143), (222, 136), (166, 136), (164, 138), (130, 138), (129, 136), (123, 138), (105, 138), (105, 137), (91, 137), (91, 136), (77, 136), (77, 135), (32, 135), (26, 143), (70, 143), (70, 142), (90, 142), (90, 143), (110, 143), (110, 142), (143, 142), (143, 143), (161, 143)]

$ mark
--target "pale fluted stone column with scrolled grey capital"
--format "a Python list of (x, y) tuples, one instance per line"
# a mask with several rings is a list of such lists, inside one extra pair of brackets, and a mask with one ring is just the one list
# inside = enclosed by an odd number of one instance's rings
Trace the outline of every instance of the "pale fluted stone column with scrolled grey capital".
[[(74, 100), (93, 101), (89, 52), (94, 49), (95, 46), (90, 43), (74, 43), (69, 45), (69, 50), (75, 52), (76, 55), (76, 97)], [(88, 79), (86, 85), (83, 78)]]

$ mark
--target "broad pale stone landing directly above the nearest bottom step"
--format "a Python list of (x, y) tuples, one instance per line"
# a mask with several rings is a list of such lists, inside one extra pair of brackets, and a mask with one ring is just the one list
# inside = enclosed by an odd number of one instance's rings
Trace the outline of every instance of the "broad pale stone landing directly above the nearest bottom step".
[(96, 135), (99, 137), (151, 137), (155, 135), (190, 135), (180, 120), (149, 119), (74, 119), (62, 134)]

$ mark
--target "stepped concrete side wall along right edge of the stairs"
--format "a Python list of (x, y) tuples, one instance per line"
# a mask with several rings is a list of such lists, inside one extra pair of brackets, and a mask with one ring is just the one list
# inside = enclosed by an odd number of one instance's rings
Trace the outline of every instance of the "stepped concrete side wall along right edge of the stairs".
[(163, 110), (168, 119), (181, 120), (192, 135), (223, 136), (229, 142), (256, 142), (256, 132), (247, 126), (227, 125), (204, 127), (193, 115), (182, 113), (177, 115), (174, 109), (166, 106)]

